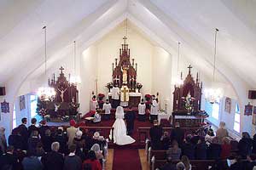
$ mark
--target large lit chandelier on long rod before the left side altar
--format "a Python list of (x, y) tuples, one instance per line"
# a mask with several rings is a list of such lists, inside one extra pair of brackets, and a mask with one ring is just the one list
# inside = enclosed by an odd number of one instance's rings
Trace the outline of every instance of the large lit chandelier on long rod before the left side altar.
[[(46, 77), (47, 69), (47, 55), (46, 55), (46, 26), (43, 27), (44, 30), (44, 76)], [(55, 99), (55, 88), (50, 88), (48, 86), (43, 86), (38, 88), (38, 97), (42, 101), (52, 101)]]

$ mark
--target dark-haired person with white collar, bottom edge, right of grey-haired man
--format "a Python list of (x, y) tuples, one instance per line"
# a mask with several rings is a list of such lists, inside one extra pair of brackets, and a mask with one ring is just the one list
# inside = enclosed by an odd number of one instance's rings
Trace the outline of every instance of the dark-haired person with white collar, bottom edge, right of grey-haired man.
[(65, 157), (63, 170), (81, 170), (82, 161), (79, 156), (75, 155), (76, 147), (74, 144), (70, 146), (70, 153)]

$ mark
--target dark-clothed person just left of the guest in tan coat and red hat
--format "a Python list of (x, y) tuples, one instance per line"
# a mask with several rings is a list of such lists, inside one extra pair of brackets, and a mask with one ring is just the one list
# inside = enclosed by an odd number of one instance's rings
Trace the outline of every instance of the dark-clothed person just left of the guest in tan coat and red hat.
[(60, 152), (62, 154), (67, 153), (67, 133), (63, 133), (63, 127), (58, 127), (57, 133), (53, 139), (53, 142), (60, 144)]

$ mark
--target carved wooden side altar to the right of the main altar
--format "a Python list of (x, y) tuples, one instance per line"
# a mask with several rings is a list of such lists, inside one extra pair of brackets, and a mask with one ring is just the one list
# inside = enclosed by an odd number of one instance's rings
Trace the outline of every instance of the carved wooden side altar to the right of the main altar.
[(199, 127), (207, 117), (207, 113), (201, 111), (202, 82), (199, 81), (198, 73), (194, 80), (191, 75), (192, 66), (188, 68), (189, 74), (183, 84), (174, 86), (172, 116), (174, 122), (180, 122), (183, 127)]

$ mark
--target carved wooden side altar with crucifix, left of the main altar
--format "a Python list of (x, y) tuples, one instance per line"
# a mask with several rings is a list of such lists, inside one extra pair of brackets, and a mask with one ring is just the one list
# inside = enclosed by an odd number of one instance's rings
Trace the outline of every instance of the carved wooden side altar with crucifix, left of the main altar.
[[(61, 74), (55, 81), (55, 74), (49, 79), (49, 87), (54, 88), (56, 95), (51, 101), (42, 101), (38, 99), (39, 115), (49, 115), (51, 119), (63, 116), (76, 116), (79, 108), (79, 91), (77, 86), (67, 81), (63, 73), (64, 68), (61, 66)], [(70, 79), (70, 75), (69, 75)]]

